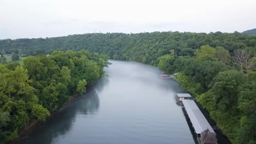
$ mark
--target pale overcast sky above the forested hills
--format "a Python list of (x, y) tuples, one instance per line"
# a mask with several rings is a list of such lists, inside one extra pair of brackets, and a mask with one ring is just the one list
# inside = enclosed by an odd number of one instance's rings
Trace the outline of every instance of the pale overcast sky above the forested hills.
[(84, 33), (243, 32), (255, 0), (0, 0), (0, 39)]

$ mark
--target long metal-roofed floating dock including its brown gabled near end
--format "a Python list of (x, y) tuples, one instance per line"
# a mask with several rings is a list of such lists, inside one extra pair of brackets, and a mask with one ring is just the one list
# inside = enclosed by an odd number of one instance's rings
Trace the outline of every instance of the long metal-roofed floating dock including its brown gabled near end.
[(208, 123), (205, 116), (203, 116), (199, 107), (194, 100), (182, 100), (185, 111), (188, 113), (190, 122), (192, 123), (196, 136), (199, 137), (200, 143), (213, 143), (216, 144), (216, 133)]

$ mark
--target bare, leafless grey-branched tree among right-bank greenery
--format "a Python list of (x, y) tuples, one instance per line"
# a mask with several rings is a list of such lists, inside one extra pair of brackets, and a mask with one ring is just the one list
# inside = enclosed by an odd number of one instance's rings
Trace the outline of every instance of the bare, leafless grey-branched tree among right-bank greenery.
[(236, 50), (233, 57), (233, 63), (241, 68), (241, 71), (246, 74), (249, 71), (256, 69), (256, 58), (253, 57), (253, 52), (249, 50)]

